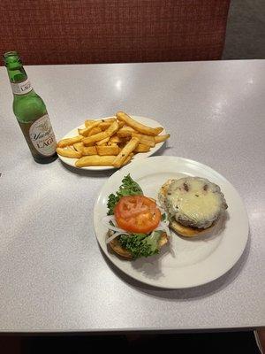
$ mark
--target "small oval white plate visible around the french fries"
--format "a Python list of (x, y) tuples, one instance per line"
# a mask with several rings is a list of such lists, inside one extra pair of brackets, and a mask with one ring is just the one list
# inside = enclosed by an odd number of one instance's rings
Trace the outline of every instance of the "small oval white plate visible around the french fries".
[[(139, 117), (139, 116), (131, 116), (131, 117), (133, 117), (133, 119), (137, 120), (139, 123), (145, 124), (148, 127), (162, 127), (162, 125), (160, 123), (158, 123), (157, 121), (150, 119), (150, 118)], [(107, 118), (110, 118), (110, 117), (105, 117), (105, 118), (101, 118), (101, 119), (107, 119)], [(97, 119), (95, 119), (95, 120), (97, 120)], [(83, 129), (84, 127), (85, 127), (84, 124), (82, 124), (79, 127), (75, 127), (74, 129), (71, 130), (71, 132), (64, 135), (64, 137), (62, 139), (71, 138), (73, 136), (79, 135), (78, 129)], [(163, 129), (163, 131), (160, 133), (160, 135), (165, 135), (165, 134), (166, 134), (166, 131)], [(136, 154), (133, 157), (133, 161), (138, 160), (140, 158), (148, 158), (148, 156), (155, 154), (155, 152), (162, 147), (163, 143), (164, 142), (159, 142), (159, 143), (155, 144), (154, 148), (151, 148), (150, 151), (148, 151), (148, 152), (142, 152), (142, 153)], [(64, 156), (60, 156), (60, 155), (58, 155), (58, 157), (64, 162), (64, 164), (71, 165), (72, 167), (75, 167), (75, 168), (79, 168), (74, 165), (77, 158), (64, 158)], [(82, 170), (90, 170), (90, 171), (103, 171), (103, 170), (113, 170), (113, 169), (115, 169), (115, 167), (113, 167), (113, 166), (87, 166), (87, 167), (82, 167), (81, 169)]]

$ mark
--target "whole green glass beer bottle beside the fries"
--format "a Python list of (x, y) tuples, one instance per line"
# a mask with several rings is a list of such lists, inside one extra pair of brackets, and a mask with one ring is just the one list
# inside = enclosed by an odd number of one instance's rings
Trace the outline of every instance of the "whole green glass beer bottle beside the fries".
[(27, 145), (36, 162), (48, 164), (57, 158), (57, 141), (46, 106), (42, 98), (34, 92), (16, 51), (4, 54), (4, 65), (14, 96), (13, 112)]

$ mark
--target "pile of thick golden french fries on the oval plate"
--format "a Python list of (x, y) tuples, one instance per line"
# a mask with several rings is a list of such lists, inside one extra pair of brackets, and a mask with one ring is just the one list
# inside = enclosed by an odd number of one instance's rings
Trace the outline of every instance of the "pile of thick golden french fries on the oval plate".
[(57, 143), (57, 154), (77, 158), (77, 167), (128, 164), (135, 154), (148, 152), (170, 135), (159, 135), (163, 127), (145, 126), (125, 112), (116, 117), (85, 121), (79, 135)]

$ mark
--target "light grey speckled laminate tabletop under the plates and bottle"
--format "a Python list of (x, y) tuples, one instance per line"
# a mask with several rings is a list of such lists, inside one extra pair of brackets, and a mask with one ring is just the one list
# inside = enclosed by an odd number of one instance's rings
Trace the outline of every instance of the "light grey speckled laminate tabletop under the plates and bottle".
[(265, 60), (27, 66), (57, 138), (123, 110), (160, 121), (159, 154), (231, 181), (248, 212), (231, 271), (193, 289), (134, 281), (99, 249), (93, 207), (112, 173), (38, 165), (0, 68), (0, 332), (194, 330), (265, 325)]

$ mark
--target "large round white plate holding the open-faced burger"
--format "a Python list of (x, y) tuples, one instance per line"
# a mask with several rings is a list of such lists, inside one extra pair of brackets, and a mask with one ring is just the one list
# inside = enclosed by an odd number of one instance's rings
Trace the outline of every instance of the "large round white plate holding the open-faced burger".
[[(223, 191), (228, 204), (225, 218), (208, 237), (191, 239), (171, 232), (170, 242), (158, 255), (133, 261), (118, 258), (106, 245), (108, 227), (102, 224), (102, 218), (108, 211), (108, 196), (117, 191), (128, 173), (140, 184), (144, 195), (155, 199), (168, 179), (184, 176), (207, 178)], [(115, 266), (138, 281), (167, 289), (190, 288), (214, 281), (239, 260), (248, 237), (246, 209), (231, 183), (207, 165), (167, 156), (134, 161), (112, 174), (95, 202), (94, 227), (103, 252)]]

